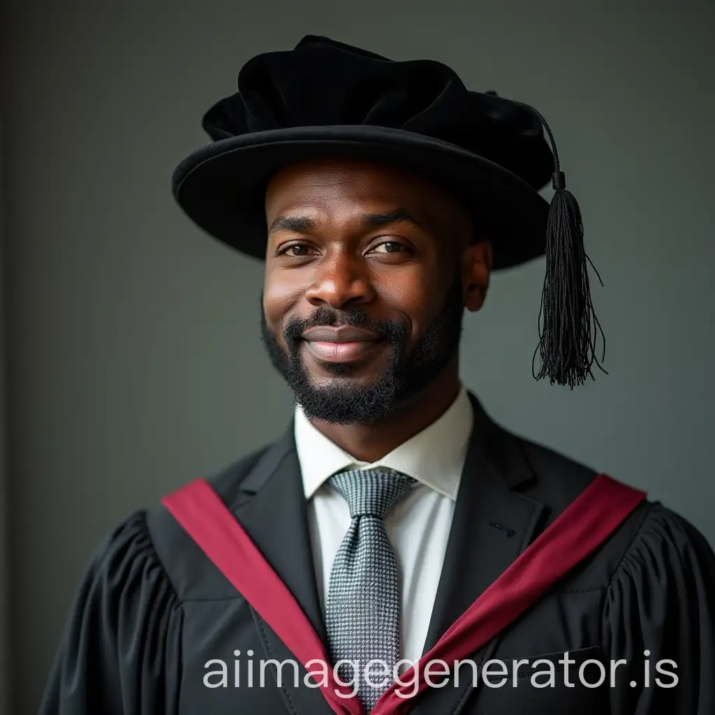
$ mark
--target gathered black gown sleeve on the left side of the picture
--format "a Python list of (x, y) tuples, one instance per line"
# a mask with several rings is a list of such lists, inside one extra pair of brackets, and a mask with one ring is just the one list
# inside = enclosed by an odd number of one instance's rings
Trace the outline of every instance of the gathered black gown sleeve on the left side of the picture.
[(39, 715), (176, 713), (182, 622), (138, 512), (107, 538), (84, 576)]

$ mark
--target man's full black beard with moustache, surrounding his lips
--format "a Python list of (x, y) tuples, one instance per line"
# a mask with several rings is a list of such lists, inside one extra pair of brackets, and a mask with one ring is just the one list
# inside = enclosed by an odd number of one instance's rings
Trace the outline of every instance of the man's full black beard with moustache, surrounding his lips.
[[(437, 317), (411, 349), (401, 322), (371, 320), (358, 307), (335, 310), (321, 306), (307, 318), (293, 318), (283, 331), (287, 350), (267, 326), (261, 310), (261, 337), (273, 367), (285, 378), (295, 403), (308, 418), (341, 425), (371, 423), (393, 412), (443, 372), (458, 353), (463, 313), (462, 285), (457, 273)], [(378, 378), (368, 383), (350, 379), (357, 363), (322, 363), (336, 379), (330, 385), (315, 385), (300, 355), (301, 335), (321, 325), (360, 327), (387, 342), (388, 358)]]

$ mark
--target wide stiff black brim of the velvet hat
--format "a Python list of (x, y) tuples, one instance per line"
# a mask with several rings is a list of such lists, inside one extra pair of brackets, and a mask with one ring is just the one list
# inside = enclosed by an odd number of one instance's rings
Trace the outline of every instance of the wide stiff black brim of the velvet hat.
[(516, 174), (454, 144), (373, 125), (289, 127), (220, 139), (174, 170), (174, 197), (204, 231), (265, 260), (267, 181), (281, 167), (322, 157), (373, 159), (411, 169), (458, 194), (493, 244), (493, 269), (543, 255), (548, 202)]

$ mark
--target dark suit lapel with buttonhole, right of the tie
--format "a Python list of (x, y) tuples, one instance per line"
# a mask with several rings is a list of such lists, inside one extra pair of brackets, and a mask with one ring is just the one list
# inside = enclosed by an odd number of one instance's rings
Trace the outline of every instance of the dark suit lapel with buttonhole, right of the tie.
[[(488, 418), (470, 394), (475, 425), (468, 445), (445, 560), (423, 652), (501, 576), (533, 540), (543, 505), (518, 492), (533, 480), (518, 442)], [(496, 639), (475, 654), (490, 657)], [(418, 713), (452, 713), (464, 688), (432, 689)], [(455, 691), (447, 696), (447, 691)], [(441, 695), (440, 695), (441, 693)]]

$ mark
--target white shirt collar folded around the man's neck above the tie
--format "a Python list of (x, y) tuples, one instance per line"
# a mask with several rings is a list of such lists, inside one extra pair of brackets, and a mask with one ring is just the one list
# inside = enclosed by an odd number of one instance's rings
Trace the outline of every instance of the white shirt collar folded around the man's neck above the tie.
[(297, 407), (295, 445), (305, 498), (310, 499), (335, 472), (382, 467), (402, 472), (454, 501), (473, 421), (472, 405), (462, 387), (455, 401), (438, 420), (382, 459), (368, 464), (356, 460), (320, 433)]

